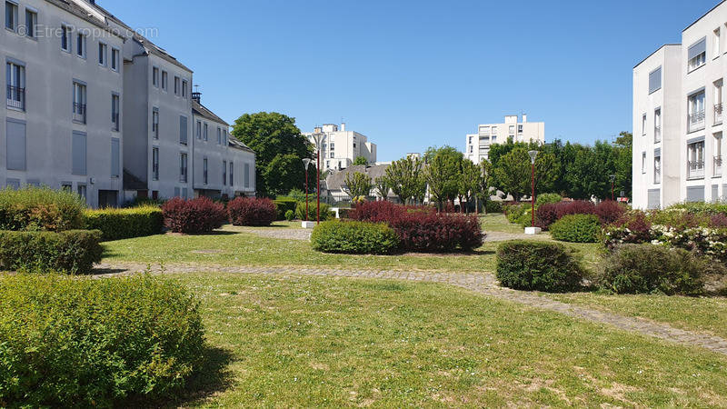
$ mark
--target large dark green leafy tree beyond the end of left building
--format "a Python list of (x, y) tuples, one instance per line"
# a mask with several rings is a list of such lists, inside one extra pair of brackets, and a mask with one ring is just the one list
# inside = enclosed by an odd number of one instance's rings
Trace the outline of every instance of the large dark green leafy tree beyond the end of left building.
[(313, 156), (314, 147), (301, 135), (294, 118), (266, 112), (244, 114), (234, 121), (232, 135), (255, 152), (258, 195), (284, 195), (304, 186), (301, 161)]

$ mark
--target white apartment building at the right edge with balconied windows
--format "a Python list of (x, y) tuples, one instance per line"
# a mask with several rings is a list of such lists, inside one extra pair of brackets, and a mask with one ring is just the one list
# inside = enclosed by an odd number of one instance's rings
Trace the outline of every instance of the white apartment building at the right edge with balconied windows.
[(722, 86), (727, 4), (633, 68), (633, 205), (725, 199)]

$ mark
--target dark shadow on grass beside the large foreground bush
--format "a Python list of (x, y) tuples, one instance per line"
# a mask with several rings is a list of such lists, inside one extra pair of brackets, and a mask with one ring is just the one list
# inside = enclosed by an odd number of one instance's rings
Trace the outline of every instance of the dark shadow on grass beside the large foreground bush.
[(195, 372), (174, 397), (167, 399), (129, 399), (123, 407), (174, 408), (203, 403), (214, 394), (224, 392), (232, 385), (232, 374), (227, 369), (233, 354), (226, 349), (208, 345), (203, 351), (202, 367)]

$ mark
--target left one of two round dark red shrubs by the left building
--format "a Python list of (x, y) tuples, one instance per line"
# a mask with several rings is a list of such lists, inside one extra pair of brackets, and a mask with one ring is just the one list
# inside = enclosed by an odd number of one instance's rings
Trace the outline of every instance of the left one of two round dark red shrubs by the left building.
[(224, 205), (207, 197), (184, 200), (179, 197), (162, 206), (164, 225), (174, 233), (209, 233), (227, 221)]

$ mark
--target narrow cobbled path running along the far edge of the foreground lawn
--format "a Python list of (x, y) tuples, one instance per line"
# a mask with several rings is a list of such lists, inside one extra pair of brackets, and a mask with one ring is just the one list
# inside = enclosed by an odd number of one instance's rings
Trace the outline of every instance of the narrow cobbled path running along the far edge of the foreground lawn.
[[(123, 275), (141, 272), (145, 269), (146, 264), (101, 264), (97, 267), (96, 273), (99, 275)], [(499, 286), (491, 274), (457, 274), (422, 271), (353, 271), (327, 268), (222, 266), (211, 264), (165, 264), (163, 271), (160, 265), (152, 266), (152, 273), (163, 272), (183, 274), (222, 272), (234, 274), (277, 274), (282, 276), (341, 276), (451, 284), (473, 291), (474, 293), (554, 311), (593, 323), (609, 324), (622, 330), (650, 335), (676, 344), (699, 346), (719, 354), (727, 355), (727, 340), (721, 337), (685, 331), (674, 328), (669, 324), (655, 323), (641, 318), (603, 313), (591, 308), (564, 304), (537, 294), (510, 290)]]

